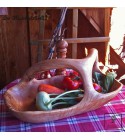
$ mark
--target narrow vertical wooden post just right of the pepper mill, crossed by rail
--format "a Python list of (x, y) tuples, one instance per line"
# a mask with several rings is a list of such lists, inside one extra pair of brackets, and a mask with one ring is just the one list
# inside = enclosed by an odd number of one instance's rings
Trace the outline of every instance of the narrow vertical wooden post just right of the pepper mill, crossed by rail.
[[(78, 9), (73, 9), (72, 37), (77, 38), (78, 29)], [(77, 58), (77, 43), (72, 44), (72, 58)]]

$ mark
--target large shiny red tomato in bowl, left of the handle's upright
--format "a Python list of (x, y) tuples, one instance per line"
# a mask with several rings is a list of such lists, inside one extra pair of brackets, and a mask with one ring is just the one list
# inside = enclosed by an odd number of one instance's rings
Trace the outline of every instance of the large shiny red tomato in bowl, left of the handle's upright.
[(79, 82), (77, 80), (72, 80), (69, 76), (65, 76), (63, 79), (63, 86), (67, 90), (75, 90), (79, 88)]

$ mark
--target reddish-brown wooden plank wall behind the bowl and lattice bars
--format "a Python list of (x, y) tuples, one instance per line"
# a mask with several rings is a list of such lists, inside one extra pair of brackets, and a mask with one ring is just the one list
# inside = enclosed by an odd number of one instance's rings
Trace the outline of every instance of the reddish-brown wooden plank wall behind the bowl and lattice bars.
[[(91, 16), (101, 28), (99, 33), (88, 18), (78, 10), (77, 37), (104, 36), (105, 8), (87, 8)], [(21, 19), (22, 18), (22, 19)], [(0, 16), (0, 88), (20, 78), (34, 63), (47, 59), (48, 43), (40, 40), (51, 39), (60, 18), (60, 8), (8, 8), (8, 16)], [(63, 29), (64, 37), (72, 38), (73, 10), (66, 13)], [(85, 47), (95, 47), (99, 51), (99, 59), (104, 62), (105, 43), (81, 43), (77, 45), (77, 58), (85, 57)], [(67, 58), (72, 58), (72, 44), (69, 44)]]

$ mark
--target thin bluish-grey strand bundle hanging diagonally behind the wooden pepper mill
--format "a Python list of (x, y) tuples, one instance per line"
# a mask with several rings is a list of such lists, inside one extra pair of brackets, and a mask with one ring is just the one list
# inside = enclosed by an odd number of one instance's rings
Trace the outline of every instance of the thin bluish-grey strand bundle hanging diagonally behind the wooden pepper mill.
[(52, 39), (48, 45), (48, 47), (49, 47), (48, 59), (52, 59), (56, 43), (60, 39), (62, 25), (63, 25), (64, 19), (65, 19), (66, 11), (67, 11), (67, 7), (64, 7), (61, 9), (61, 16), (60, 16), (59, 22), (53, 32)]

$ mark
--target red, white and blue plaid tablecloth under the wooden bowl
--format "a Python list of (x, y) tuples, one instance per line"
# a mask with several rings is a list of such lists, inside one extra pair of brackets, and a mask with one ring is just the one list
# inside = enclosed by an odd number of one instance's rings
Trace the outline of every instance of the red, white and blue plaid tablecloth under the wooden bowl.
[(1, 132), (123, 132), (125, 131), (125, 86), (110, 102), (99, 109), (46, 123), (26, 123), (12, 116), (5, 105), (4, 92), (19, 79), (0, 90)]

